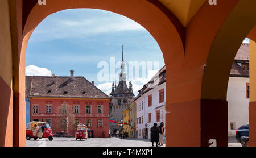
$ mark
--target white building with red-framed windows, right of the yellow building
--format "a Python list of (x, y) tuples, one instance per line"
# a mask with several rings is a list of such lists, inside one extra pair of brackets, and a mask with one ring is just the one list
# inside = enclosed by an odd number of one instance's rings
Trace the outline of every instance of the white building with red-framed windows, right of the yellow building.
[(139, 90), (134, 101), (137, 105), (137, 138), (150, 139), (150, 128), (154, 123), (166, 125), (166, 67)]

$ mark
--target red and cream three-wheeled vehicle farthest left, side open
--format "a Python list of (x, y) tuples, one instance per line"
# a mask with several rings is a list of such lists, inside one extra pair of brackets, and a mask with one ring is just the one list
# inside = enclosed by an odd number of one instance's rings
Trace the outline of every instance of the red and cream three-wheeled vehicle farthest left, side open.
[(52, 141), (52, 129), (47, 122), (30, 122), (27, 124), (26, 128), (26, 139), (30, 140), (31, 138), (34, 138), (34, 140), (38, 138), (48, 138), (50, 141)]

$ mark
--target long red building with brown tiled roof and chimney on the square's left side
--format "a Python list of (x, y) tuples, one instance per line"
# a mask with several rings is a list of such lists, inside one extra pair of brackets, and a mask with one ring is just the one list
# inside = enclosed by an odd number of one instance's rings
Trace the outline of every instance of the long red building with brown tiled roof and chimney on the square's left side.
[(108, 138), (110, 97), (84, 77), (26, 76), (30, 120), (48, 122), (55, 133), (75, 136), (76, 125), (86, 124), (96, 138)]

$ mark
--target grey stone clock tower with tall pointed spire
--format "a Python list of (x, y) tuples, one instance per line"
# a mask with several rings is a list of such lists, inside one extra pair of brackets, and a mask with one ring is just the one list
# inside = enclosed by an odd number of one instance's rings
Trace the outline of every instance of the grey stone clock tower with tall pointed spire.
[[(112, 84), (111, 102), (109, 104), (109, 117), (114, 120), (123, 120), (123, 111), (125, 111), (134, 99), (133, 85), (129, 82), (129, 88), (126, 84), (126, 73), (125, 73), (125, 61), (123, 60), (122, 51), (122, 63), (121, 72), (119, 73), (118, 86)], [(117, 130), (122, 131), (121, 126), (117, 123), (109, 122), (110, 131), (115, 133)]]

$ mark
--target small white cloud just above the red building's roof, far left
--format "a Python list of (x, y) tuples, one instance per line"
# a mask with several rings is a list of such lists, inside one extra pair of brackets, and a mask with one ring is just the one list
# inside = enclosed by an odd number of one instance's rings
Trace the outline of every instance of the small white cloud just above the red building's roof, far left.
[(26, 76), (51, 76), (52, 72), (47, 68), (39, 68), (35, 65), (28, 65), (25, 69)]

